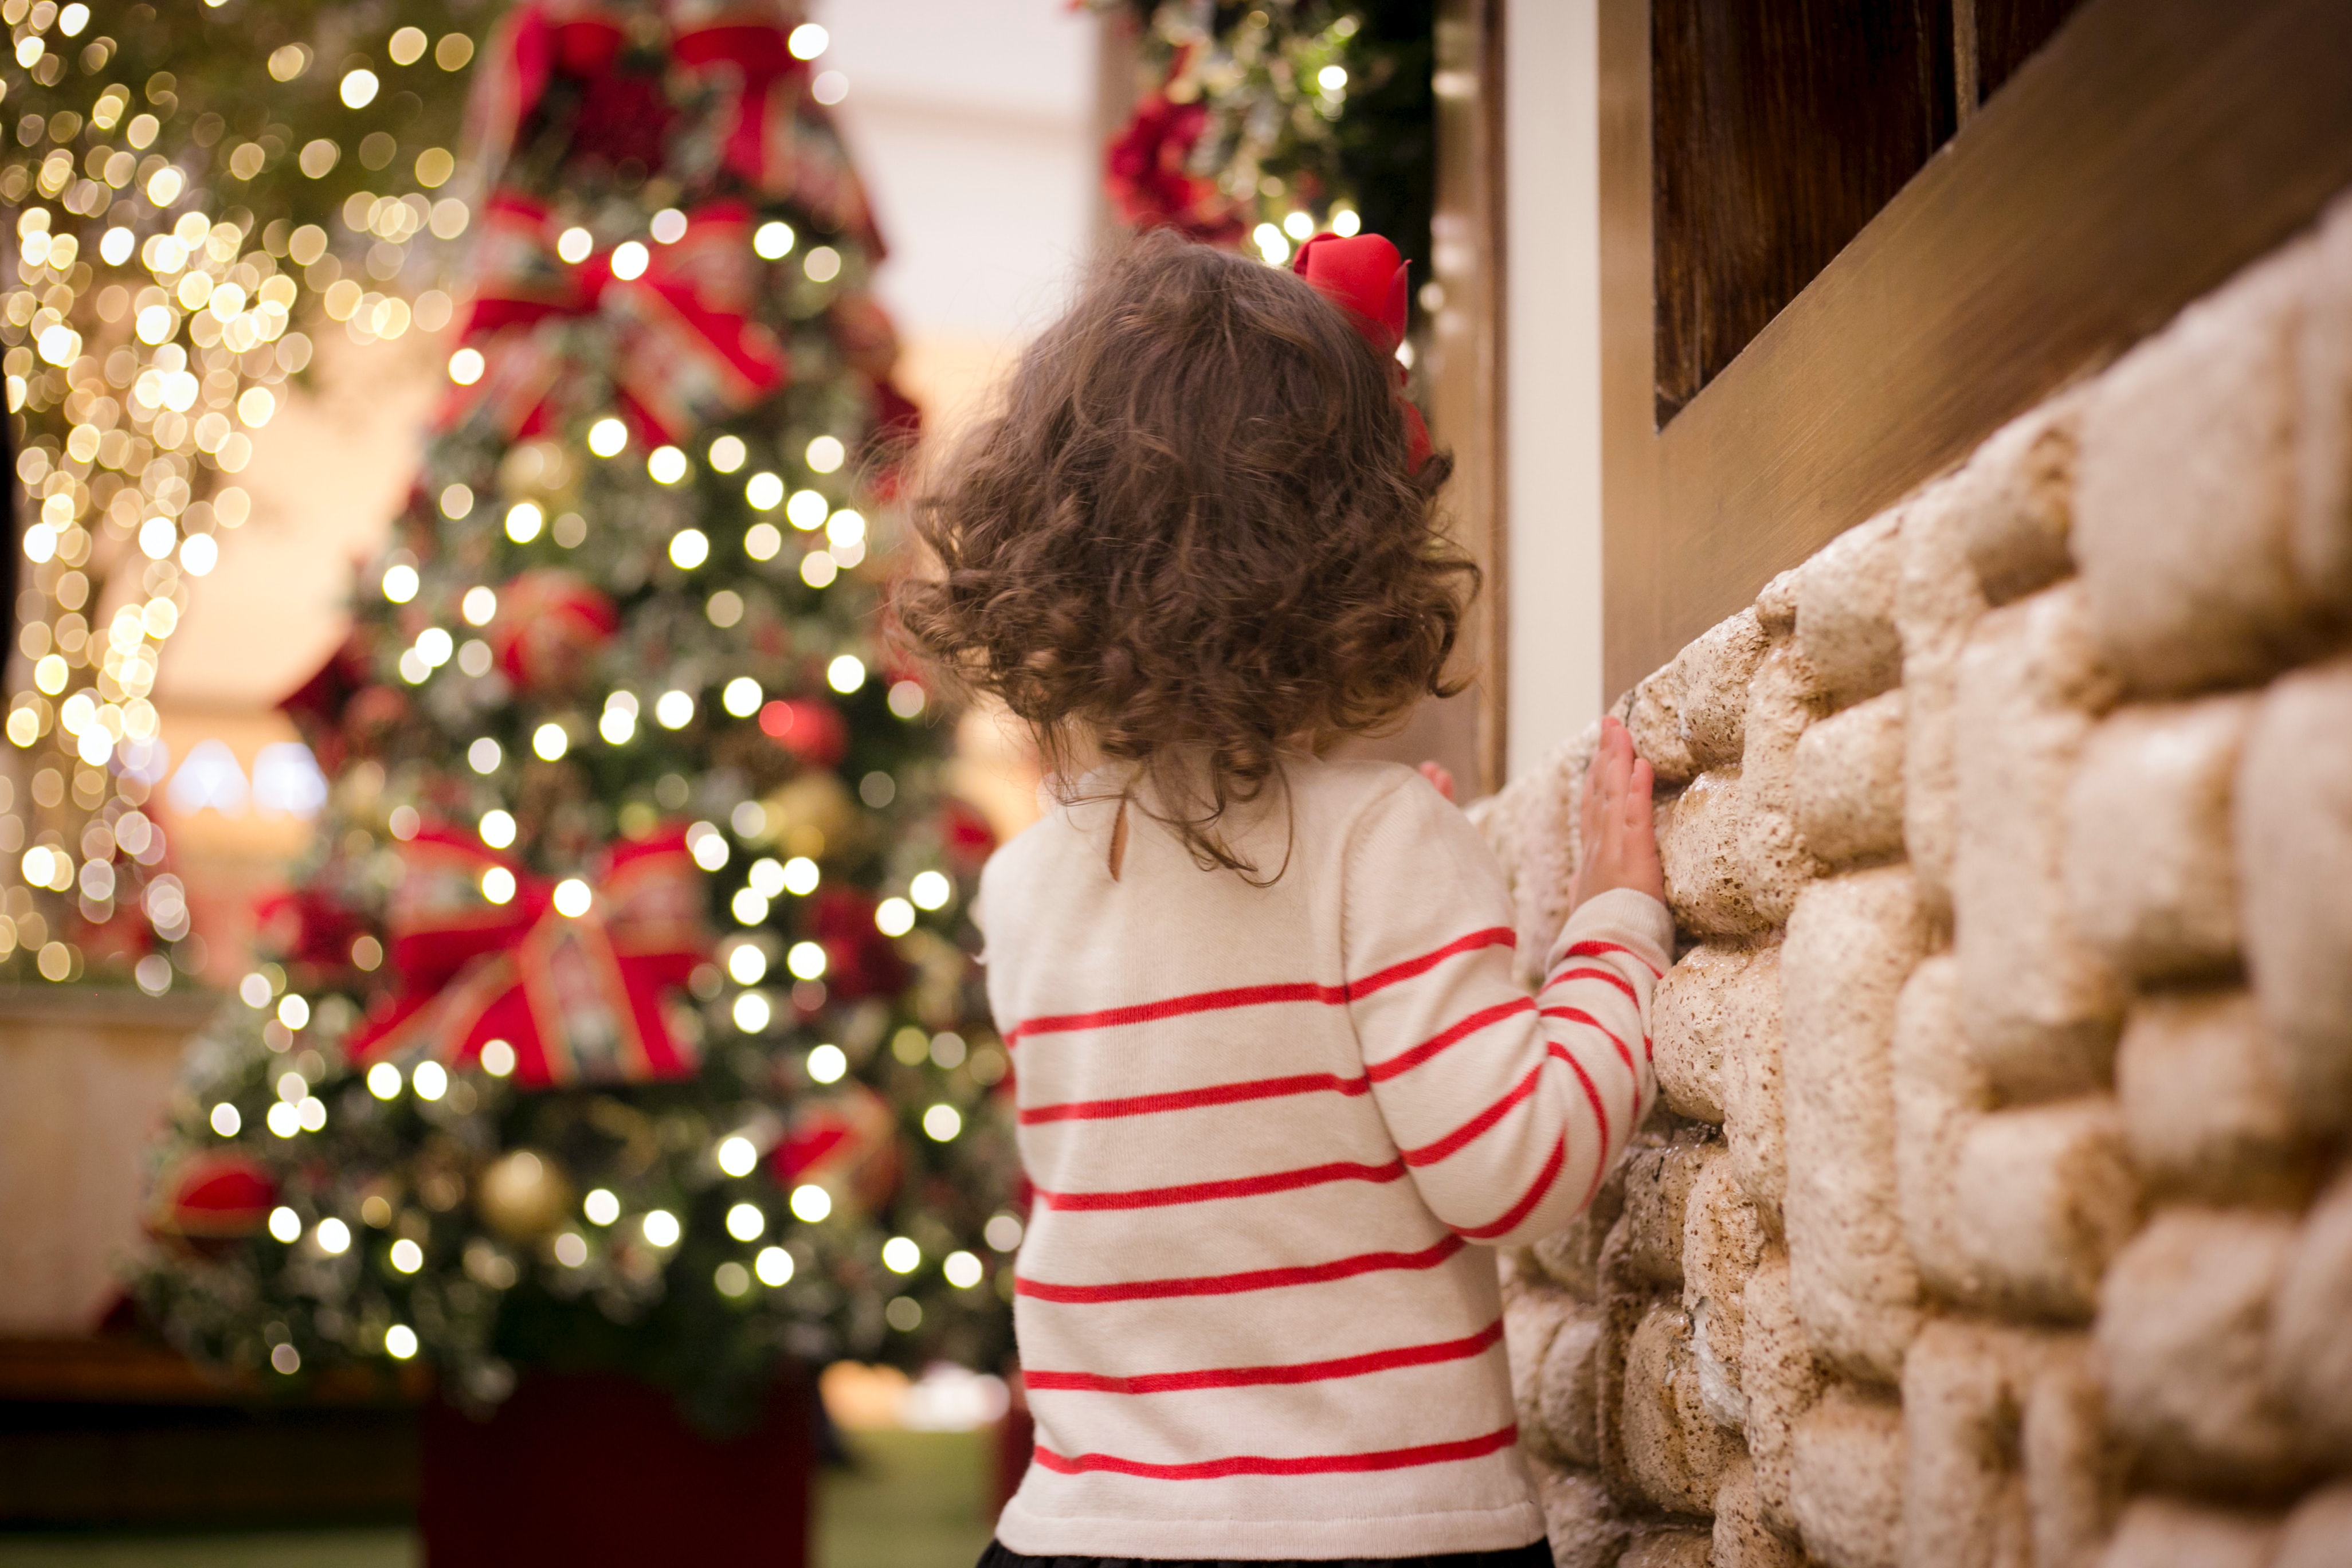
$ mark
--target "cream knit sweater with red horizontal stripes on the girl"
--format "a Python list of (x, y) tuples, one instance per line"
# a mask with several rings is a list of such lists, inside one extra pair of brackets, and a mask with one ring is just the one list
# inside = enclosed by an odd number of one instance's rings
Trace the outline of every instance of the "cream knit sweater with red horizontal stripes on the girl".
[[(1581, 907), (1529, 997), (1477, 830), (1421, 776), (1289, 769), (1272, 886), (1058, 806), (981, 879), (1035, 1187), (1014, 1326), (1035, 1556), (1519, 1547), (1494, 1258), (1573, 1220), (1649, 1112), (1672, 926)], [(1232, 830), (1284, 860), (1275, 811)]]

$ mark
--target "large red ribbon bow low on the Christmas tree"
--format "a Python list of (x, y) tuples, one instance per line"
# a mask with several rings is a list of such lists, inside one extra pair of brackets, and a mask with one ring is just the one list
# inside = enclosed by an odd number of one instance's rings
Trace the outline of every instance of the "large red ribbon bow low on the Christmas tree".
[[(553, 907), (553, 884), (449, 827), (421, 827), (402, 860), (388, 922), (400, 992), (346, 1041), (350, 1060), (463, 1065), (503, 1039), (529, 1088), (694, 1072), (661, 1013), (708, 952), (682, 827), (614, 844), (576, 917)], [(515, 877), (503, 905), (482, 893), (494, 865)]]

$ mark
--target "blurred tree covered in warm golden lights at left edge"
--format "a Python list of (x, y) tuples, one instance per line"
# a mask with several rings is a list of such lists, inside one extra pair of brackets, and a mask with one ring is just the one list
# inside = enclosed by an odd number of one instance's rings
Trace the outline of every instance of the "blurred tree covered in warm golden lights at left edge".
[(28, 512), (0, 555), (24, 764), (0, 778), (21, 877), (0, 978), (162, 992), (174, 961), (205, 969), (143, 809), (165, 766), (151, 691), (310, 331), (449, 320), (437, 242), (470, 221), (449, 148), (477, 9), (0, 2), (19, 284), (0, 343)]

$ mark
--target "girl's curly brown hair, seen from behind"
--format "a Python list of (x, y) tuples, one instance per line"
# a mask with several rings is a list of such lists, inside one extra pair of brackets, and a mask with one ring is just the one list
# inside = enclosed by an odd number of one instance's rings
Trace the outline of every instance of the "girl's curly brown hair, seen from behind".
[(1127, 799), (1256, 879), (1218, 820), (1287, 748), (1458, 691), (1477, 567), (1437, 529), (1449, 473), (1409, 465), (1392, 364), (1305, 280), (1143, 235), (917, 489), (936, 569), (898, 623), (1047, 766), (1131, 764)]

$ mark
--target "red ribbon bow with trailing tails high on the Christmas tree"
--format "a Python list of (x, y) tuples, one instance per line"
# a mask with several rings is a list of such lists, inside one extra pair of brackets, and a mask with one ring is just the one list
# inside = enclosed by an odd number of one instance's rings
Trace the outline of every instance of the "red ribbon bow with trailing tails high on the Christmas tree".
[(569, 369), (569, 355), (539, 331), (555, 317), (604, 315), (616, 324), (612, 381), (654, 442), (741, 414), (781, 388), (790, 374), (783, 346), (750, 320), (750, 209), (699, 207), (677, 244), (647, 249), (644, 273), (630, 280), (614, 277), (612, 252), (572, 266), (555, 254), (555, 219), (543, 205), (513, 190), (492, 195), (461, 334), (489, 364), (473, 386), (452, 388), (442, 428), (485, 407), (510, 437), (550, 428), (548, 402)]

